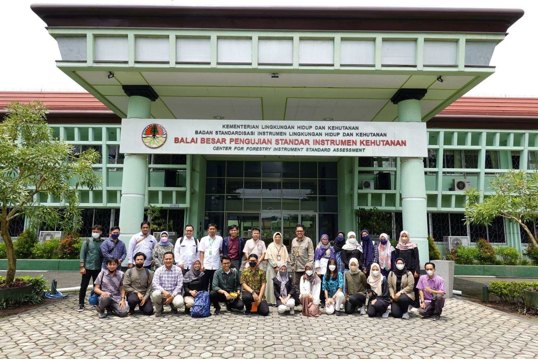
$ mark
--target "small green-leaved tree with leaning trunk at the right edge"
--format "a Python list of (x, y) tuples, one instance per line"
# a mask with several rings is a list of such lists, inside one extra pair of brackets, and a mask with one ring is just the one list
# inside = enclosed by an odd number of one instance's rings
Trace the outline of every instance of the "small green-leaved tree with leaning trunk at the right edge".
[(490, 187), (494, 194), (485, 196), (482, 201), (476, 188), (466, 192), (466, 223), (487, 226), (495, 217), (507, 218), (519, 223), (529, 236), (529, 242), (538, 248), (533, 232), (525, 224), (538, 218), (538, 173), (509, 170), (495, 175)]

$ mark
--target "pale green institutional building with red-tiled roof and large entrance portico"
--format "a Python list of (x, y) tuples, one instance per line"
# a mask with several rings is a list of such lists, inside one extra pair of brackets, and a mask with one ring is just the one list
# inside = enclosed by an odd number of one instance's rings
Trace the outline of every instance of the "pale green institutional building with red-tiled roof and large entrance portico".
[(377, 207), (422, 263), (428, 235), (525, 245), (502, 219), (466, 226), (462, 189), (487, 196), (492, 175), (536, 170), (538, 101), (460, 98), (493, 75), (522, 10), (32, 9), (58, 41), (56, 65), (89, 94), (2, 96), (44, 100), (55, 136), (103, 154), (104, 186), (81, 191), (83, 235), (119, 224), (128, 240), (151, 204), (180, 235), (235, 223), (289, 244), (298, 223), (332, 238)]

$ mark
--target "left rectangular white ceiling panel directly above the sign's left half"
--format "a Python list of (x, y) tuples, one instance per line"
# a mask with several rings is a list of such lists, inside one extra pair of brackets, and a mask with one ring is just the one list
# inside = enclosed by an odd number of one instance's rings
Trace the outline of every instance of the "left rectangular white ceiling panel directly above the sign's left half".
[(263, 119), (261, 98), (257, 97), (168, 97), (161, 100), (176, 118)]

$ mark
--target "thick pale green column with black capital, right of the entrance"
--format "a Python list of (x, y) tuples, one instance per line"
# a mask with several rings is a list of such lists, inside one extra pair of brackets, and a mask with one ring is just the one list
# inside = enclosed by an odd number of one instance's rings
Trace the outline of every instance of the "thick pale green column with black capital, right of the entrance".
[[(391, 98), (398, 105), (399, 122), (421, 122), (420, 100), (426, 89), (399, 89)], [(419, 246), (421, 267), (429, 261), (426, 182), (422, 157), (400, 157), (400, 182), (404, 230)], [(397, 234), (398, 235), (398, 234)]]

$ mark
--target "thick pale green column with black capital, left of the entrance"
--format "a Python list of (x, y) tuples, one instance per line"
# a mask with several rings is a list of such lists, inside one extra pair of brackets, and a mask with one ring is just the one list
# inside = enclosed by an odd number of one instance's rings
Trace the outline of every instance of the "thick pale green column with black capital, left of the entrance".
[[(147, 85), (126, 85), (123, 89), (129, 96), (127, 117), (150, 118), (151, 102), (158, 97), (153, 88)], [(126, 153), (123, 161), (122, 199), (119, 206), (119, 227), (122, 232), (120, 238), (126, 244), (133, 234), (140, 231), (140, 222), (144, 219), (146, 174), (147, 154)]]

